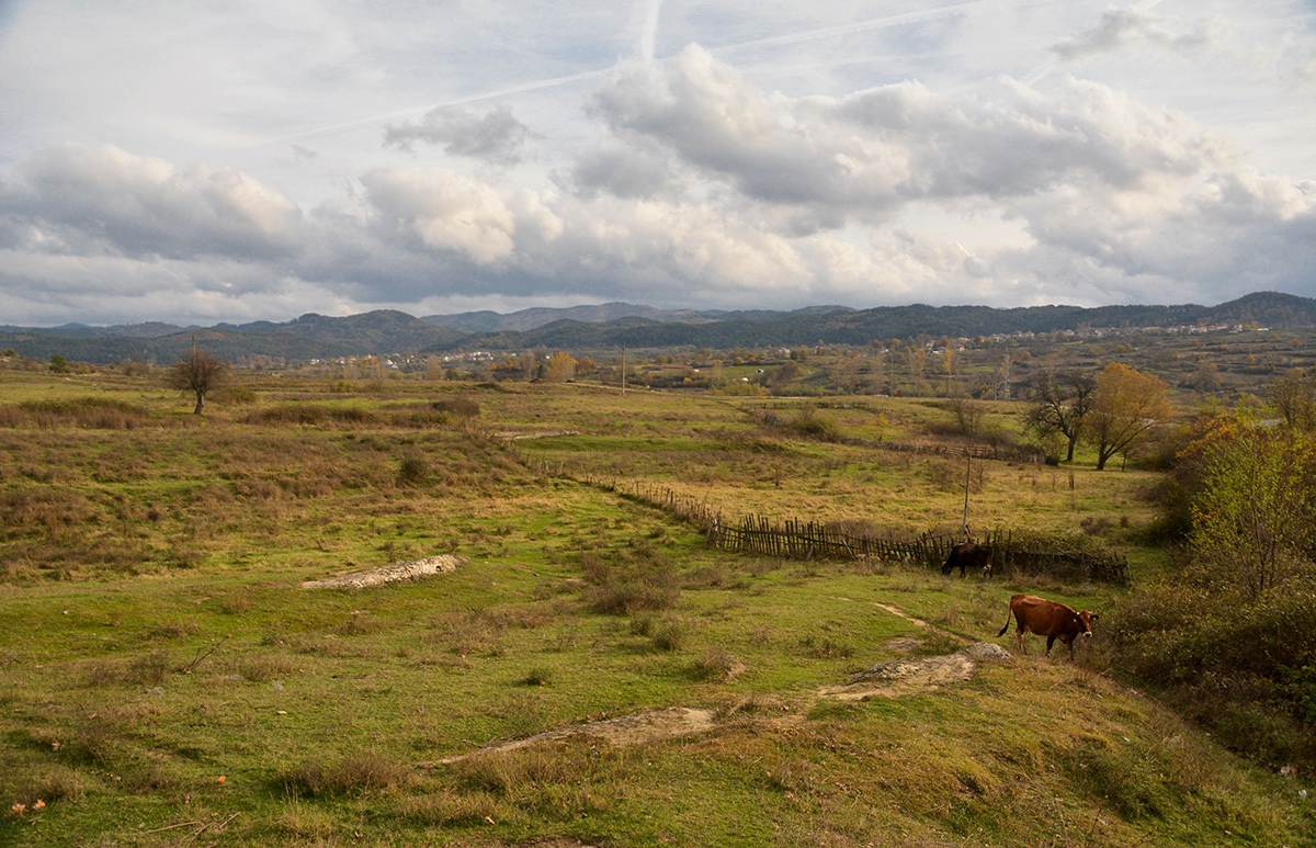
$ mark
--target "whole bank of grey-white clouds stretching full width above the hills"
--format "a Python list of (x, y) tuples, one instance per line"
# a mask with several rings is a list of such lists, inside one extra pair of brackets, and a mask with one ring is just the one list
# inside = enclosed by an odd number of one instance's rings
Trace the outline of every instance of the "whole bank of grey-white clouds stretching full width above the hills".
[[(393, 128), (392, 144), (509, 162), (524, 136), (508, 141), (496, 115), (432, 113)], [(1249, 169), (1184, 115), (1096, 82), (788, 96), (692, 45), (619, 65), (587, 115), (595, 141), (551, 171), (553, 187), (536, 169), (494, 184), (362, 167), (305, 213), (233, 169), (109, 146), (38, 151), (0, 169), (0, 307), (37, 298), (29, 288), (47, 299), (29, 313), (101, 304), (133, 279), (188, 315), (292, 298), (304, 305), (291, 313), (479, 296), (1219, 300), (1244, 283), (1304, 291), (1316, 267), (1316, 188)]]

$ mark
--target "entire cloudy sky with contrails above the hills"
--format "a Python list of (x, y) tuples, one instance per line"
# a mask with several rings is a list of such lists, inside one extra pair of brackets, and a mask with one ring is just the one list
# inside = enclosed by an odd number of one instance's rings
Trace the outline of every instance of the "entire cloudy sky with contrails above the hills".
[(1316, 296), (1316, 0), (0, 0), (0, 324)]

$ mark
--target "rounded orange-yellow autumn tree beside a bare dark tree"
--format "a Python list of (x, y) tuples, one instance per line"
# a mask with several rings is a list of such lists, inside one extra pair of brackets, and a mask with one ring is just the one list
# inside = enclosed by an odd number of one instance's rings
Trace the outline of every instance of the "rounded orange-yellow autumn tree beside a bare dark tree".
[(1144, 374), (1120, 362), (1111, 362), (1096, 378), (1092, 410), (1084, 431), (1096, 448), (1096, 470), (1133, 444), (1157, 424), (1174, 415), (1170, 387), (1158, 377)]

